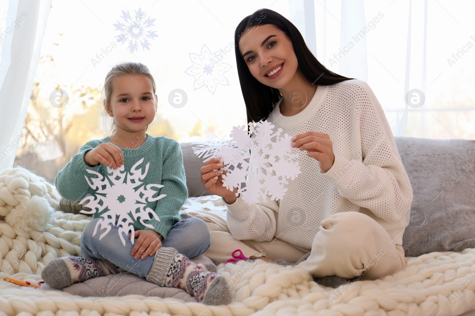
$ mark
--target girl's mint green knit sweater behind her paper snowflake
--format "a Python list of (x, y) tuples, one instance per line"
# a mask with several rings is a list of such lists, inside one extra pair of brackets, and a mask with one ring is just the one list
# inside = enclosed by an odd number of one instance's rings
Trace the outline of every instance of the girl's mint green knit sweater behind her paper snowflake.
[[(147, 175), (142, 180), (142, 185), (154, 183), (164, 186), (159, 189), (158, 193), (155, 193), (154, 197), (160, 194), (166, 194), (166, 197), (147, 203), (149, 208), (155, 210), (160, 221), (154, 218), (143, 221), (146, 224), (151, 224), (154, 227), (153, 230), (163, 236), (162, 241), (164, 241), (171, 226), (180, 220), (178, 212), (188, 198), (183, 156), (180, 144), (176, 140), (165, 136), (153, 137), (149, 134), (146, 135), (145, 142), (137, 148), (118, 147), (123, 153), (125, 171), (130, 172), (132, 166), (141, 158), (144, 158), (137, 168), (142, 167), (144, 171), (145, 165), (147, 163), (150, 163), (150, 165)], [(84, 176), (89, 179), (94, 179), (96, 176), (87, 172), (86, 169), (98, 172), (107, 178), (107, 167), (102, 163), (92, 167), (86, 165), (84, 154), (102, 143), (112, 142), (107, 137), (88, 141), (79, 149), (79, 153), (74, 155), (71, 161), (58, 172), (55, 185), (63, 198), (70, 201), (80, 201), (88, 195), (95, 196), (95, 190), (89, 186)], [(101, 213), (95, 213), (93, 218), (100, 217), (104, 212), (104, 210), (101, 210)], [(133, 220), (132, 213), (129, 213), (129, 216)], [(135, 230), (150, 229), (143, 226), (139, 221), (134, 221), (133, 227)]]

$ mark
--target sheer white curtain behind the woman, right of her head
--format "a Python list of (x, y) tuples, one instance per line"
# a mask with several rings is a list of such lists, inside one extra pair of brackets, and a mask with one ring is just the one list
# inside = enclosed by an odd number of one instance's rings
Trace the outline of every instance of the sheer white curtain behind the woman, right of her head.
[(393, 135), (475, 138), (474, 2), (315, 0), (314, 16), (306, 2), (292, 22), (314, 43), (315, 21), (318, 60), (368, 82)]

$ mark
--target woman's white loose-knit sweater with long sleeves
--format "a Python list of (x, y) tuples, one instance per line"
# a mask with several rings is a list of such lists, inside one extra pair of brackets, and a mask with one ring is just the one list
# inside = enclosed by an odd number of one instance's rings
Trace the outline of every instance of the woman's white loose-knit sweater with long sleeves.
[(252, 206), (237, 198), (229, 205), (228, 227), (236, 239), (271, 241), (311, 249), (320, 221), (338, 212), (357, 211), (380, 223), (402, 244), (409, 224), (412, 188), (380, 102), (369, 85), (347, 80), (318, 86), (310, 103), (296, 115), (280, 113), (278, 101), (267, 118), (295, 136), (307, 131), (330, 135), (335, 161), (327, 172), (300, 152), (300, 170), (280, 201)]

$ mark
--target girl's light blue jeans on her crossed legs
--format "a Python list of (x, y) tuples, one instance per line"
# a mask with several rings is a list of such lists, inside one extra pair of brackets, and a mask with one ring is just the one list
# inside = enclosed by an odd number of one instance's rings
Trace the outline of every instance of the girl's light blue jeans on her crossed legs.
[[(147, 258), (135, 260), (132, 252), (133, 244), (126, 233), (122, 233), (125, 246), (119, 237), (119, 228), (111, 225), (111, 230), (99, 240), (99, 236), (105, 232), (101, 226), (97, 227), (95, 235), (95, 225), (100, 218), (91, 220), (85, 227), (81, 235), (81, 257), (92, 259), (107, 259), (116, 266), (130, 271), (145, 279), (152, 268), (155, 256), (147, 255)], [(117, 225), (117, 220), (115, 221)], [(134, 240), (134, 244), (137, 239)], [(209, 229), (205, 221), (201, 218), (190, 217), (182, 219), (173, 225), (167, 234), (162, 247), (175, 248), (179, 253), (193, 258), (208, 250), (211, 245)]]

